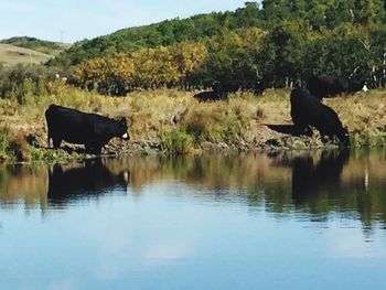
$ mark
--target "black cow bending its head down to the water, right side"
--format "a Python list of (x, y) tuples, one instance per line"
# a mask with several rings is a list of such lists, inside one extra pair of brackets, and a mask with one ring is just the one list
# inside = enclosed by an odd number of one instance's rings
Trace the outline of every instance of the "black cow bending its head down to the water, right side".
[(336, 112), (305, 89), (294, 88), (291, 92), (291, 118), (300, 132), (312, 136), (309, 126), (317, 128), (324, 138), (334, 136), (343, 146), (350, 146), (349, 132), (343, 128)]

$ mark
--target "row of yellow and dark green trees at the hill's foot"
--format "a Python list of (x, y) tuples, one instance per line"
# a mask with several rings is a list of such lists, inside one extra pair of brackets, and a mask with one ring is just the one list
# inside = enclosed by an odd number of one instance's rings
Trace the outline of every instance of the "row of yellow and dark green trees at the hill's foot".
[(344, 23), (317, 33), (303, 25), (283, 21), (269, 31), (223, 29), (202, 42), (107, 54), (76, 65), (72, 78), (82, 87), (92, 84), (127, 92), (160, 86), (204, 88), (229, 79), (262, 79), (266, 87), (288, 87), (323, 74), (385, 86), (386, 26)]

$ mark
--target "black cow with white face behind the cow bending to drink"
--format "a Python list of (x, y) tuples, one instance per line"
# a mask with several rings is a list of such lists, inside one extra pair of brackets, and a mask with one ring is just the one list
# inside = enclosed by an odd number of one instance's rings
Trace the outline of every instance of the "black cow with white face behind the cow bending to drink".
[(365, 82), (349, 77), (312, 76), (308, 79), (308, 89), (319, 99), (339, 94), (353, 94), (358, 90), (367, 92)]

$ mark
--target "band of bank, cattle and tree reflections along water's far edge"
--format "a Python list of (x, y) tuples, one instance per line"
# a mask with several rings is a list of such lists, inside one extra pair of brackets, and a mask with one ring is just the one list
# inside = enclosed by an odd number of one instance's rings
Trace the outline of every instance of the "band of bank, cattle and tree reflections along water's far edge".
[(84, 164), (3, 165), (0, 206), (42, 212), (106, 194), (142, 196), (147, 185), (179, 183), (196, 201), (326, 221), (331, 214), (364, 227), (386, 221), (386, 158), (382, 151), (283, 152), (163, 159), (112, 159)]

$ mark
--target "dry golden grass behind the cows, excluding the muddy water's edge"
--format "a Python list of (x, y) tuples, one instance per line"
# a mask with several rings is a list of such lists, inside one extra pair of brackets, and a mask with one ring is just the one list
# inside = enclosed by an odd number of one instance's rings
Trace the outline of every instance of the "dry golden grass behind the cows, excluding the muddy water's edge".
[[(199, 103), (192, 92), (174, 89), (143, 90), (127, 97), (104, 97), (57, 83), (47, 94), (30, 96), (24, 105), (15, 99), (0, 99), (0, 127), (18, 135), (33, 133), (45, 146), (44, 110), (57, 104), (84, 111), (127, 117), (132, 140), (159, 143), (163, 132), (189, 133), (195, 147), (202, 142), (237, 144), (245, 140), (280, 138), (265, 123), (288, 125), (290, 90), (267, 89), (262, 96), (247, 93), (230, 95), (227, 100)], [(386, 144), (386, 92), (325, 99), (349, 127), (354, 146)], [(13, 133), (15, 135), (15, 133)], [(264, 138), (260, 138), (264, 135)]]

